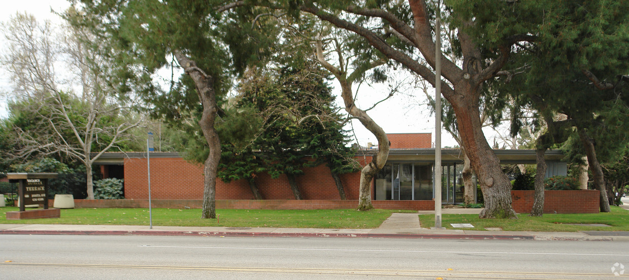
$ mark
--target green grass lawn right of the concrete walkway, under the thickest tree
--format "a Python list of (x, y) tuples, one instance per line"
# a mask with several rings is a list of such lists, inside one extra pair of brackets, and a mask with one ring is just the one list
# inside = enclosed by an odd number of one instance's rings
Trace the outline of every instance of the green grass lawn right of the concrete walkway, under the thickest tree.
[[(435, 215), (420, 215), (421, 227), (433, 227)], [(529, 217), (519, 214), (518, 219), (481, 219), (476, 214), (446, 214), (442, 216), (442, 226), (454, 229), (450, 223), (471, 223), (474, 228), (465, 230), (485, 230), (486, 227), (499, 227), (506, 231), (533, 232), (576, 232), (579, 230), (629, 230), (629, 211), (612, 206), (610, 213), (596, 214), (544, 214), (543, 217)], [(603, 223), (611, 227), (587, 227), (567, 223)]]

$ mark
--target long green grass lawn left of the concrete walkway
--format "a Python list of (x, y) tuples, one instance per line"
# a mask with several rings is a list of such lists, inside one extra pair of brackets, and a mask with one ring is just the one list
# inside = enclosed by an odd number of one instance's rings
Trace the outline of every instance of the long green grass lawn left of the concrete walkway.
[[(18, 207), (0, 207), (0, 223), (47, 223), (70, 225), (148, 225), (148, 208), (62, 209), (61, 218), (6, 220), (6, 212)], [(374, 229), (391, 213), (410, 210), (232, 210), (217, 209), (216, 219), (202, 219), (201, 209), (153, 208), (153, 225), (189, 227), (292, 227), (317, 229)]]

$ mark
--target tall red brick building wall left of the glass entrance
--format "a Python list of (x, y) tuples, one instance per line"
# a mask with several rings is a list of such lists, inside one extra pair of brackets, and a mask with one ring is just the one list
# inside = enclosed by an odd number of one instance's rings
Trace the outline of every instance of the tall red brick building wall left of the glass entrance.
[[(359, 156), (363, 166), (371, 156)], [(182, 158), (151, 158), (151, 198), (155, 200), (201, 200), (203, 198), (203, 167)], [(360, 171), (341, 175), (348, 200), (359, 196)], [(262, 173), (255, 182), (265, 200), (292, 200), (286, 175), (277, 179)], [(304, 168), (297, 177), (304, 200), (339, 200), (337, 186), (324, 165)], [(147, 199), (147, 161), (143, 158), (125, 159), (125, 198)], [(216, 200), (252, 200), (251, 189), (245, 180), (225, 183), (216, 181)]]

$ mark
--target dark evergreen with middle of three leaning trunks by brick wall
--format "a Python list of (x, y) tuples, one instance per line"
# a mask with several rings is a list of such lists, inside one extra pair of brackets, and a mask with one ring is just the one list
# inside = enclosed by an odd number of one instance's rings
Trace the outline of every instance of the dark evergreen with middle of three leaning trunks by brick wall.
[[(262, 82), (248, 80), (243, 102), (266, 115), (263, 131), (253, 144), (260, 149), (267, 172), (274, 178), (286, 175), (295, 198), (302, 199), (296, 176), (303, 174), (303, 167), (351, 156), (339, 153), (338, 145), (347, 141), (340, 130), (340, 116), (332, 112), (333, 97), (325, 72), (307, 59), (291, 58), (282, 64), (261, 72), (258, 80), (261, 77)], [(347, 148), (340, 151), (350, 152)], [(309, 162), (310, 156), (321, 160)], [(343, 162), (338, 163), (331, 171), (343, 171)]]

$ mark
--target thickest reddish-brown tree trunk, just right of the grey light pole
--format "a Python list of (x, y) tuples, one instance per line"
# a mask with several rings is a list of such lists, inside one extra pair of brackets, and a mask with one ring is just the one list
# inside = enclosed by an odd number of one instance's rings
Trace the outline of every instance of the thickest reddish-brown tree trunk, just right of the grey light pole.
[[(473, 85), (460, 85), (461, 90), (477, 91)], [(511, 207), (511, 182), (504, 175), (500, 161), (494, 151), (487, 144), (482, 133), (481, 117), (478, 98), (475, 92), (465, 95), (455, 95), (450, 101), (457, 124), (459, 135), (464, 145), (465, 153), (469, 156), (472, 168), (481, 183), (485, 208), (479, 214), (480, 218), (517, 218)], [(460, 98), (459, 98), (460, 97)]]

